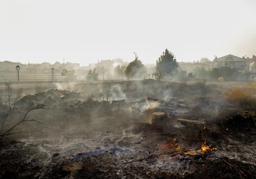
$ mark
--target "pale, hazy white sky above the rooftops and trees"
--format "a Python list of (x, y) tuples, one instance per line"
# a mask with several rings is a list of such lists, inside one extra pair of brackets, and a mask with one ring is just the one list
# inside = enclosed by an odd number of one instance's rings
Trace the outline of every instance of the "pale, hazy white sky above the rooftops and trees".
[(256, 54), (256, 0), (0, 0), (0, 61)]

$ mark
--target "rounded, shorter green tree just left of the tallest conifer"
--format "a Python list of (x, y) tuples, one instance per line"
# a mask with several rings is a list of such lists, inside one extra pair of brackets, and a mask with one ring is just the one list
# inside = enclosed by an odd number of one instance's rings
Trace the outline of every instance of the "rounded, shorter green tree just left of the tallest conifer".
[(138, 60), (138, 57), (136, 57), (134, 61), (131, 61), (125, 69), (125, 75), (128, 79), (131, 77), (145, 76), (146, 74), (146, 67)]

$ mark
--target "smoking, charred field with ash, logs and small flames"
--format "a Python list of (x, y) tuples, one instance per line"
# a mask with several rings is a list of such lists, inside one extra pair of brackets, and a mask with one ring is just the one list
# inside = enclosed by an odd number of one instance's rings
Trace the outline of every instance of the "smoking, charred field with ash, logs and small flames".
[(37, 107), (34, 120), (0, 137), (0, 178), (255, 179), (255, 89), (245, 89), (144, 80), (27, 94), (3, 131)]

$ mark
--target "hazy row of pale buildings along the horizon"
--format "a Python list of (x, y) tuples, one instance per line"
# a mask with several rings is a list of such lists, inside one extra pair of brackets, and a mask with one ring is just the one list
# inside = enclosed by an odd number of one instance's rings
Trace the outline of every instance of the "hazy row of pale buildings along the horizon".
[[(186, 71), (188, 73), (195, 72), (198, 68), (204, 68), (206, 71), (211, 71), (213, 68), (219, 68), (222, 66), (230, 66), (231, 68), (236, 68), (239, 72), (246, 73), (251, 72), (252, 74), (256, 73), (256, 56), (253, 55), (252, 58), (249, 57), (238, 57), (234, 55), (226, 55), (222, 57), (215, 57), (213, 61), (210, 61), (207, 58), (202, 58), (200, 61), (193, 62), (178, 62), (179, 69), (182, 71)], [(5, 74), (13, 73), (16, 71), (15, 66), (19, 65), (21, 67), (21, 72), (26, 74), (47, 74), (54, 68), (55, 73), (62, 72), (63, 69), (67, 70), (75, 70), (76, 75), (85, 75), (89, 69), (96, 68), (96, 71), (101, 74), (113, 74), (114, 68), (117, 65), (127, 66), (128, 63), (124, 62), (121, 58), (113, 59), (113, 60), (101, 60), (97, 63), (90, 64), (89, 66), (80, 66), (79, 63), (59, 63), (55, 62), (54, 64), (50, 64), (47, 62), (43, 62), (42, 64), (21, 64), (19, 62), (11, 62), (11, 61), (0, 61), (0, 72), (4, 72)], [(149, 73), (155, 70), (155, 64), (146, 65)]]

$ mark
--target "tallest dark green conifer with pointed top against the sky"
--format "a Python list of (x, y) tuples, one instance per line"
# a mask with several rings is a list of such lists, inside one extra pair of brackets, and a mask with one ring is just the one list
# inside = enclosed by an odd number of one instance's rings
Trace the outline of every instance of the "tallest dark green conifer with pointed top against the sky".
[(167, 75), (172, 75), (172, 72), (178, 68), (178, 62), (174, 55), (165, 49), (162, 55), (157, 60), (156, 70), (161, 71)]

